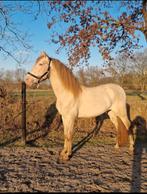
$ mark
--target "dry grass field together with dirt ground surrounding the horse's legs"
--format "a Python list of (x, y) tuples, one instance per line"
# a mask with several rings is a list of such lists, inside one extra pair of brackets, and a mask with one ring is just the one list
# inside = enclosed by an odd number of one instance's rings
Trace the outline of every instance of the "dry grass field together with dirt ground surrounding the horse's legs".
[(0, 192), (147, 191), (147, 94), (127, 92), (135, 148), (115, 150), (116, 130), (105, 118), (93, 135), (95, 118), (75, 123), (73, 156), (58, 161), (63, 125), (52, 90), (27, 92), (27, 145), (21, 141), (20, 92), (0, 99)]

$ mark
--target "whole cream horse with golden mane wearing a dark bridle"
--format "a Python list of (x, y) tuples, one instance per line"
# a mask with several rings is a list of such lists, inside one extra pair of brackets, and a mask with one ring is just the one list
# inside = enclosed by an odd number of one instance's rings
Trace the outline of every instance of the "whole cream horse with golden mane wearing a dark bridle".
[(130, 122), (126, 111), (126, 95), (119, 85), (81, 85), (63, 63), (42, 52), (32, 71), (27, 73), (25, 82), (29, 87), (36, 87), (48, 78), (57, 98), (56, 107), (62, 115), (64, 125), (64, 149), (60, 153), (60, 159), (68, 160), (72, 154), (75, 119), (95, 117), (105, 112), (120, 134), (115, 147), (118, 148), (129, 137), (130, 149), (133, 149), (133, 135), (129, 133)]

